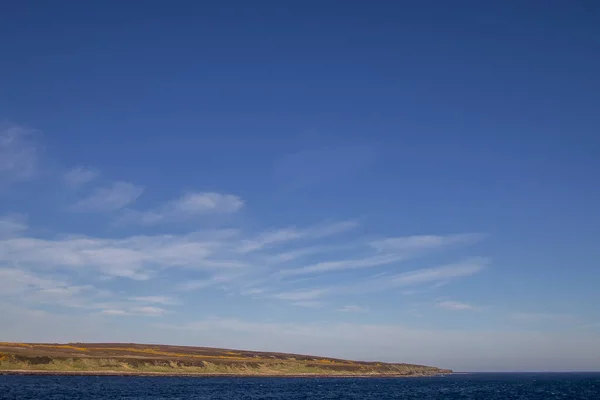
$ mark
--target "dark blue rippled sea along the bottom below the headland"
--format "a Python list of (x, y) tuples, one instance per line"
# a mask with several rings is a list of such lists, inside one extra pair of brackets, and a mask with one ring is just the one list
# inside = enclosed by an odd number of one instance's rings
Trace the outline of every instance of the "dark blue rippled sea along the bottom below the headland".
[(404, 379), (0, 375), (0, 399), (600, 400), (600, 374), (473, 374)]

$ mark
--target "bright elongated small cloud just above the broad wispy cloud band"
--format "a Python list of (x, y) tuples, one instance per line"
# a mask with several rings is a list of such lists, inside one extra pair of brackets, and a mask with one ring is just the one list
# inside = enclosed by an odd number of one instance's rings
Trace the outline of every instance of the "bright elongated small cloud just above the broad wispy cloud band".
[(194, 192), (153, 210), (128, 210), (121, 222), (141, 225), (178, 222), (205, 214), (233, 213), (243, 206), (244, 201), (232, 194)]

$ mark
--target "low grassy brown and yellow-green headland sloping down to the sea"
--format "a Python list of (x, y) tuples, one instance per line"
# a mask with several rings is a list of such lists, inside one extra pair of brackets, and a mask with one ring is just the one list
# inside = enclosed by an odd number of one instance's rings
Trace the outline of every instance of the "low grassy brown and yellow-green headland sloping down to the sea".
[(451, 372), (423, 365), (208, 347), (0, 342), (2, 371), (245, 376), (421, 376)]

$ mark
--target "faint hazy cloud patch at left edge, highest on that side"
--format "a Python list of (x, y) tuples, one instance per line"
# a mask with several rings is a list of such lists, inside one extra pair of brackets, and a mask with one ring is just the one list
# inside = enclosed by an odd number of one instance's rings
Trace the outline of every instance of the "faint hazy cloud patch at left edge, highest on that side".
[(22, 181), (38, 173), (40, 145), (34, 132), (0, 123), (0, 178)]

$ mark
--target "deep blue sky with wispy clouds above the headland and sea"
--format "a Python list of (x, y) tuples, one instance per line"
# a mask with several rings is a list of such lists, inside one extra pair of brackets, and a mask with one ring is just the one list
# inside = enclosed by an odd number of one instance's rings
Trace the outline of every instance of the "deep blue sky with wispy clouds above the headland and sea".
[(595, 2), (0, 6), (0, 339), (600, 369)]

